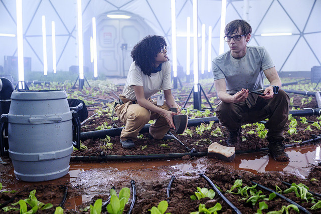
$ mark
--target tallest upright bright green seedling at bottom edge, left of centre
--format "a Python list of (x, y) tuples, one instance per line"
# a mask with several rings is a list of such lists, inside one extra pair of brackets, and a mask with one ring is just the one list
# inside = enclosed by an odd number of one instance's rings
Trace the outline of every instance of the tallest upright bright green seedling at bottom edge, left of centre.
[(130, 195), (130, 189), (127, 187), (119, 191), (119, 198), (114, 189), (110, 189), (110, 203), (107, 204), (107, 211), (110, 214), (121, 214)]

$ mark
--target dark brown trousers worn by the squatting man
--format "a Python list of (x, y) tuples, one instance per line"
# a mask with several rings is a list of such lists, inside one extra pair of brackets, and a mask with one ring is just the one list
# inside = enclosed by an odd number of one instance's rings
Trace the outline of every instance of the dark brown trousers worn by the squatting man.
[(284, 140), (283, 130), (288, 120), (289, 100), (289, 96), (283, 90), (279, 90), (278, 94), (274, 94), (273, 98), (268, 100), (249, 93), (244, 102), (220, 102), (216, 107), (216, 116), (228, 131), (236, 131), (242, 123), (255, 123), (268, 118), (268, 122), (265, 123), (269, 130), (268, 141)]

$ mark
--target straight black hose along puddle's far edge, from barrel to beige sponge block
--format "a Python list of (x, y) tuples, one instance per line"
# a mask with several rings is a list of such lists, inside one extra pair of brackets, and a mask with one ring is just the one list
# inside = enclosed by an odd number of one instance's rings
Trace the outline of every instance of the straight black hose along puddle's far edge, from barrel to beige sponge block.
[[(193, 150), (193, 149), (192, 149)], [(105, 161), (110, 160), (150, 160), (163, 158), (181, 158), (185, 155), (201, 157), (206, 156), (207, 152), (185, 152), (185, 153), (169, 153), (169, 154), (146, 154), (146, 155), (102, 155), (102, 156), (71, 156), (70, 161)]]

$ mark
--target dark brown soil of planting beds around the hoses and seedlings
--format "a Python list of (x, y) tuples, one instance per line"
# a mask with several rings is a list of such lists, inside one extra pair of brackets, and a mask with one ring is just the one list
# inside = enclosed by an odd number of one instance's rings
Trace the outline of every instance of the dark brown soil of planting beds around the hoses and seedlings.
[[(204, 86), (203, 86), (204, 87)], [(205, 88), (205, 87), (204, 87)], [(113, 93), (106, 95), (96, 96), (100, 99), (110, 99), (114, 98), (117, 100), (115, 94), (119, 94), (122, 88), (118, 87), (117, 90)], [(208, 91), (205, 89), (205, 91)], [(173, 90), (175, 97), (178, 97), (179, 100), (186, 100), (189, 93), (188, 90), (184, 91), (175, 91)], [(185, 95), (184, 95), (185, 94)], [(210, 97), (215, 97), (215, 92), (207, 95)], [(311, 102), (305, 103), (302, 105), (301, 100), (305, 96), (290, 94), (290, 97), (293, 97), (293, 106), (295, 108), (317, 108), (315, 98), (312, 97)], [(307, 99), (307, 97), (305, 97)], [(90, 100), (90, 98), (85, 97), (84, 100)], [(213, 99), (214, 104), (218, 103), (218, 99)], [(110, 112), (112, 110), (110, 105), (100, 102), (101, 100), (94, 100), (88, 104), (89, 116), (92, 116), (88, 119), (81, 128), (81, 132), (95, 131), (98, 126), (101, 126), (105, 123), (105, 126), (111, 127), (122, 127), (124, 124), (119, 120), (112, 120)], [(205, 101), (206, 102), (206, 101)], [(180, 103), (183, 105), (184, 103)], [(213, 104), (213, 103), (212, 103)], [(205, 105), (206, 106), (206, 105)], [(209, 106), (207, 106), (209, 107)], [(215, 106), (214, 106), (215, 107)], [(101, 109), (106, 109), (106, 111), (101, 111)], [(97, 110), (98, 109), (98, 110)], [(99, 113), (98, 113), (99, 112)], [(96, 114), (96, 115), (95, 115)], [(99, 115), (99, 116), (97, 116)], [(189, 113), (189, 117), (194, 115)], [(214, 116), (210, 114), (209, 116)], [(196, 116), (198, 117), (198, 116)], [(297, 119), (297, 133), (289, 134), (288, 128), (284, 131), (284, 136), (286, 138), (286, 144), (292, 144), (295, 142), (300, 142), (304, 140), (311, 139), (314, 135), (320, 135), (321, 131), (312, 126), (312, 122), (319, 121), (317, 116), (305, 116), (306, 119), (310, 122), (308, 124), (303, 124), (300, 122), (300, 117), (294, 117)], [(288, 122), (289, 125), (289, 122)], [(307, 125), (311, 125), (311, 130), (305, 130)], [(209, 127), (209, 126), (207, 126)], [(221, 134), (217, 136), (211, 135), (214, 130), (220, 127)], [(257, 132), (257, 125), (252, 125), (250, 127), (245, 127), (242, 131), (243, 141), (236, 145), (237, 150), (250, 150), (250, 149), (260, 149), (267, 147), (267, 140), (265, 138), (259, 138), (257, 134), (251, 134), (251, 131)], [(218, 124), (212, 124), (212, 127), (209, 130), (205, 130), (203, 133), (197, 133), (197, 127), (188, 127), (191, 130), (192, 136), (189, 134), (186, 135), (175, 135), (181, 142), (183, 142), (188, 148), (195, 148), (196, 151), (207, 151), (208, 146), (213, 142), (219, 142), (222, 145), (226, 145), (225, 139), (228, 136), (228, 132), (224, 127), (219, 126)], [(166, 153), (181, 153), (188, 152), (185, 146), (182, 146), (177, 140), (172, 141), (162, 141), (154, 140), (148, 137), (148, 133), (143, 133), (140, 136), (140, 139), (135, 143), (136, 146), (134, 149), (126, 150), (121, 147), (119, 142), (119, 136), (111, 137), (109, 143), (112, 143), (112, 147), (107, 146), (108, 143), (103, 139), (87, 139), (82, 142), (83, 145), (87, 146), (88, 149), (74, 150), (72, 156), (100, 156), (100, 155), (144, 155), (144, 154), (166, 154)], [(319, 143), (319, 142), (313, 142)], [(183, 159), (190, 159), (190, 156), (185, 156)], [(194, 157), (195, 159), (196, 157)], [(9, 173), (13, 169), (12, 162), (8, 156), (3, 157), (4, 161), (7, 161), (9, 164), (2, 165), (0, 164), (0, 175)], [(81, 162), (79, 162), (81, 164)], [(167, 169), (164, 166), (164, 169)], [(259, 202), (264, 201), (267, 205), (267, 209), (263, 209), (262, 213), (267, 213), (268, 211), (280, 210), (283, 205), (289, 205), (285, 200), (275, 197), (272, 200), (263, 200), (259, 199), (255, 205), (252, 205), (251, 202), (246, 202), (242, 200), (244, 196), (240, 194), (228, 193), (234, 182), (238, 179), (242, 179), (242, 186), (246, 185), (252, 186), (251, 181), (255, 181), (259, 184), (262, 184), (270, 189), (276, 190), (278, 186), (282, 190), (282, 195), (290, 198), (299, 205), (306, 208), (311, 213), (320, 213), (321, 209), (312, 210), (311, 206), (315, 203), (311, 203), (309, 199), (300, 199), (295, 195), (294, 192), (283, 193), (285, 189), (288, 188), (282, 181), (288, 183), (303, 183), (309, 187), (310, 191), (321, 193), (321, 186), (319, 185), (319, 180), (321, 180), (321, 166), (318, 164), (311, 167), (311, 170), (306, 178), (300, 178), (293, 174), (288, 174), (285, 172), (266, 172), (253, 174), (243, 170), (234, 170), (232, 167), (227, 166), (224, 162), (221, 162), (216, 159), (207, 159), (207, 167), (204, 168), (201, 172), (205, 173), (214, 184), (216, 184), (221, 190), (222, 193), (229, 199), (242, 213), (256, 213), (259, 209)], [(168, 176), (175, 175), (175, 170), (168, 169)], [(162, 180), (152, 180), (152, 181), (135, 181), (136, 182), (136, 202), (133, 207), (132, 213), (149, 213), (148, 209), (151, 209), (152, 206), (157, 206), (157, 204), (162, 200), (169, 200), (169, 207), (167, 212), (171, 213), (190, 213), (193, 211), (198, 211), (199, 204), (205, 204), (207, 208), (214, 206), (217, 202), (222, 205), (222, 209), (218, 213), (235, 213), (233, 209), (221, 198), (218, 193), (216, 193), (214, 199), (202, 198), (201, 200), (191, 200), (191, 195), (197, 191), (197, 187), (206, 187), (208, 189), (213, 189), (209, 183), (199, 176), (198, 173), (191, 172), (185, 173), (184, 176), (177, 176), (172, 184), (170, 190), (170, 197), (167, 198), (167, 187), (170, 179)], [(6, 186), (6, 178), (4, 176), (0, 177), (0, 182)], [(118, 193), (121, 188), (128, 187), (131, 189), (130, 178), (128, 180), (117, 180), (114, 182), (106, 183), (105, 189), (110, 189), (112, 186), (115, 187), (116, 192)], [(17, 190), (17, 192), (1, 192), (0, 193), (0, 204), (4, 204), (6, 201), (14, 198), (13, 202), (19, 201), (19, 199), (28, 198), (29, 192), (33, 189), (36, 189), (36, 197), (39, 201), (44, 203), (52, 203), (54, 207), (57, 207), (62, 201), (65, 188), (68, 187), (68, 198), (81, 196), (88, 191), (81, 184), (72, 185), (71, 182), (66, 182), (60, 185), (41, 185), (37, 183), (26, 184), (24, 188), (21, 189), (7, 189), (7, 190)], [(256, 190), (261, 190), (262, 194), (269, 196), (270, 192), (263, 190), (259, 187), (256, 187)], [(237, 192), (237, 189), (233, 190), (234, 193)], [(98, 198), (101, 198), (104, 201), (109, 197), (109, 193), (104, 191), (94, 196), (89, 202), (84, 203), (76, 207), (75, 210), (64, 210), (64, 213), (89, 213), (88, 211), (83, 211), (83, 209), (89, 204), (93, 204), (94, 201)], [(126, 204), (124, 212), (127, 212), (131, 203), (132, 191), (129, 198), (128, 204)], [(320, 200), (314, 196), (315, 201)], [(67, 199), (68, 200), (68, 199)], [(10, 204), (9, 204), (10, 205)], [(19, 205), (15, 207), (19, 208)], [(30, 207), (28, 208), (30, 209)], [(3, 211), (3, 210), (2, 210)], [(37, 213), (53, 213), (54, 208), (47, 210), (38, 211)], [(9, 211), (7, 213), (19, 213), (19, 211)], [(103, 213), (107, 213), (106, 210), (103, 210)], [(292, 208), (289, 208), (289, 213), (296, 213)], [(300, 213), (303, 213), (300, 211)]]

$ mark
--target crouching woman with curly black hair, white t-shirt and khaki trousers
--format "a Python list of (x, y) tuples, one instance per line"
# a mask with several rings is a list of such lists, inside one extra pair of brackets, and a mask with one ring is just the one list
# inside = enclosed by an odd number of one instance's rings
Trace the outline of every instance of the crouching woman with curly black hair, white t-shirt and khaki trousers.
[[(156, 120), (149, 127), (152, 138), (172, 137), (166, 133), (170, 128), (175, 129), (173, 116), (179, 115), (180, 108), (171, 91), (171, 65), (168, 62), (166, 45), (161, 36), (147, 36), (131, 51), (133, 62), (123, 92), (119, 96), (119, 103), (115, 107), (117, 117), (126, 124), (120, 134), (120, 142), (125, 149), (135, 147), (134, 141), (137, 140), (139, 131), (149, 120)], [(154, 101), (150, 96), (157, 92), (159, 96), (157, 101)], [(170, 111), (170, 108), (176, 108), (179, 112)]]

